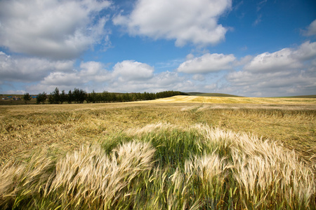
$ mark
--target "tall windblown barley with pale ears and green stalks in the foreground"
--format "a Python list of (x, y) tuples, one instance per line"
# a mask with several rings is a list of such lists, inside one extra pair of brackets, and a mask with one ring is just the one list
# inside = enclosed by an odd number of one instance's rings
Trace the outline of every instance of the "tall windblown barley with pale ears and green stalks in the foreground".
[(255, 135), (155, 123), (0, 170), (2, 209), (315, 209), (312, 166)]

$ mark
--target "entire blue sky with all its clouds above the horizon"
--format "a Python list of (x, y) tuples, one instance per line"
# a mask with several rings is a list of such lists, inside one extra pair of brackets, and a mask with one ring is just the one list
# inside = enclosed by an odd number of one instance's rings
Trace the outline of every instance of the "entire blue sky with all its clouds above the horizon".
[(0, 0), (0, 93), (316, 94), (315, 0)]

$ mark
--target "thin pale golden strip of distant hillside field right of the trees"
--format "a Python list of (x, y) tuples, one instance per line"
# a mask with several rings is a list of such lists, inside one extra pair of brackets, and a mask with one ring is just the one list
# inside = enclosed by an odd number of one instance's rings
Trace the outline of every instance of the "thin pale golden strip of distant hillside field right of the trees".
[(315, 98), (251, 98), (175, 96), (147, 103), (211, 103), (211, 104), (316, 104)]

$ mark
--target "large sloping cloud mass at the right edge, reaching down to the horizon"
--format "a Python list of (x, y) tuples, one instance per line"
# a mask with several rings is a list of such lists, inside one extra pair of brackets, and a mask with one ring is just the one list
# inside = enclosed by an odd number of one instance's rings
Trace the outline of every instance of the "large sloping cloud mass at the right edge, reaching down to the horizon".
[(242, 71), (225, 77), (225, 90), (246, 96), (315, 94), (316, 43), (307, 41), (297, 49), (265, 52), (251, 59)]

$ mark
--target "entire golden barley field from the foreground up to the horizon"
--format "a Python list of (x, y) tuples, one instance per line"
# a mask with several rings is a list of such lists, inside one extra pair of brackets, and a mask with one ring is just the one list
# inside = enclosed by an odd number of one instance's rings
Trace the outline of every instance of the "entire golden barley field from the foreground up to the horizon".
[(0, 108), (0, 209), (316, 209), (316, 99)]

